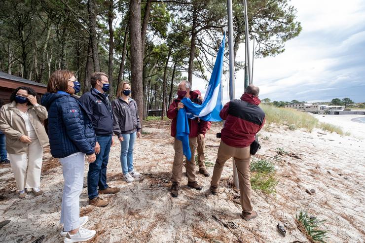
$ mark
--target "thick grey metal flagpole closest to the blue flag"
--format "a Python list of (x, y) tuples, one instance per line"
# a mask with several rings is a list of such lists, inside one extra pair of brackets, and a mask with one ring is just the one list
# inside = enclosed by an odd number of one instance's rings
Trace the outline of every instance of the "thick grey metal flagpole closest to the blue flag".
[[(234, 89), (234, 55), (233, 55), (233, 18), (232, 18), (232, 0), (227, 0), (227, 12), (228, 12), (228, 51), (229, 51), (229, 100), (235, 98)], [(237, 189), (239, 189), (237, 168), (233, 161), (233, 181)]]

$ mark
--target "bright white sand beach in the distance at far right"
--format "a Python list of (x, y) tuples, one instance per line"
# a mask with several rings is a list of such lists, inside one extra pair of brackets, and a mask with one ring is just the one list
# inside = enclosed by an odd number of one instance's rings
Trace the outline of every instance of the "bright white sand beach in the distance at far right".
[(365, 123), (352, 121), (365, 115), (314, 115), (320, 122), (327, 122), (350, 132), (353, 137), (365, 139)]

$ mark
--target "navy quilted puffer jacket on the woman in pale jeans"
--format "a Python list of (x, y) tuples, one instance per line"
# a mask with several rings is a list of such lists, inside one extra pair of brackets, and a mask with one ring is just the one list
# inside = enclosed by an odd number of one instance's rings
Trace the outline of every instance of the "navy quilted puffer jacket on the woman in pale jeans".
[(47, 93), (42, 105), (48, 110), (48, 137), (54, 158), (73, 153), (93, 154), (96, 137), (85, 109), (66, 92)]

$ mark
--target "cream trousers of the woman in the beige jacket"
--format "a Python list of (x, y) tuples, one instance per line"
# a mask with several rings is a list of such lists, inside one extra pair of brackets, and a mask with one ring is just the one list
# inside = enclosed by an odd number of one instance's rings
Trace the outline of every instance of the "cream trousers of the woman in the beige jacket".
[(32, 143), (24, 143), (28, 146), (28, 153), (9, 154), (10, 166), (19, 191), (40, 186), (43, 148), (34, 131), (29, 131), (28, 137), (32, 139)]

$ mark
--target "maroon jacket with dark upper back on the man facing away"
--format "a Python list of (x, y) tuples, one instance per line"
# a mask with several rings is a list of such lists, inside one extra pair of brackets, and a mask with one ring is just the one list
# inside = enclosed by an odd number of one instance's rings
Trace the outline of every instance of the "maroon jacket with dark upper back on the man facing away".
[(224, 105), (219, 116), (225, 120), (221, 130), (222, 141), (232, 147), (247, 147), (255, 140), (255, 134), (265, 123), (265, 113), (258, 106), (261, 101), (251, 94), (243, 94), (240, 100)]

